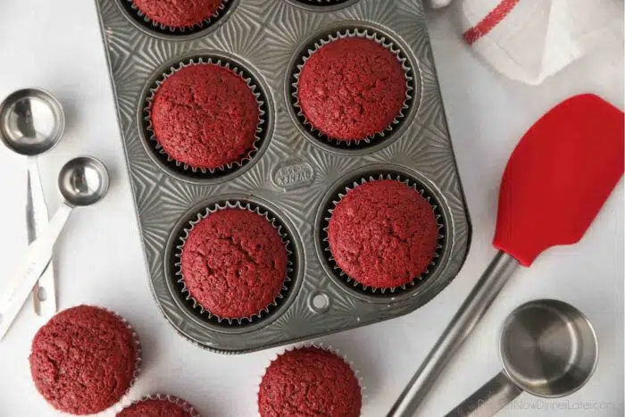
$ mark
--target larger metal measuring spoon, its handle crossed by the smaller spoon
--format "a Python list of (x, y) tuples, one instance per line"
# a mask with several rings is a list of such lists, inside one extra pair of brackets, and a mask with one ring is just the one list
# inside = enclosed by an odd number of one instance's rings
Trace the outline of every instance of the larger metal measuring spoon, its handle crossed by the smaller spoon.
[[(63, 136), (65, 117), (61, 104), (45, 90), (25, 88), (0, 104), (0, 140), (6, 147), (28, 158), (26, 224), (29, 243), (45, 229), (48, 213), (41, 188), (37, 155), (52, 149)], [(56, 290), (52, 263), (33, 289), (35, 313), (56, 313)]]

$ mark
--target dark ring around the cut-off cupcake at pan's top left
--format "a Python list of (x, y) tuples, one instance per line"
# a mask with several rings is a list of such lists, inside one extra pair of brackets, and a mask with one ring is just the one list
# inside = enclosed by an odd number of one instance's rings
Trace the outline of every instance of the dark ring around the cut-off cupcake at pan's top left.
[(146, 20), (146, 17), (134, 5), (133, 0), (117, 0), (115, 3), (121, 9), (126, 18), (137, 29), (156, 38), (169, 40), (190, 40), (207, 35), (219, 28), (229, 15), (237, 7), (239, 0), (222, 0), (220, 8), (210, 18), (197, 23), (193, 27), (172, 28), (161, 23)]

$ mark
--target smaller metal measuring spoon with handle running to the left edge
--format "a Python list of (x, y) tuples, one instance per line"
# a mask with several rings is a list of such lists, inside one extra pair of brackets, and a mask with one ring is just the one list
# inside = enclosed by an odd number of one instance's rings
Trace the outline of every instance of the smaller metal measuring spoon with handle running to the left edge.
[(95, 158), (80, 157), (65, 163), (58, 179), (64, 203), (44, 232), (30, 244), (8, 288), (0, 295), (0, 340), (20, 313), (21, 306), (52, 259), (52, 249), (74, 207), (96, 204), (106, 195), (109, 176)]

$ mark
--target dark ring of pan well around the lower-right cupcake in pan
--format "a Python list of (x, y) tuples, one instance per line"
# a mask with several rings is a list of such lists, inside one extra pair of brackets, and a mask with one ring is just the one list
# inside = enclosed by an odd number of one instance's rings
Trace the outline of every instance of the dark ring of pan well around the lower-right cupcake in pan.
[[(362, 179), (366, 182), (372, 182), (379, 179), (395, 179), (401, 182), (406, 182), (411, 187), (419, 190), (421, 196), (429, 199), (429, 204), (434, 210), (437, 216), (437, 223), (439, 226), (437, 240), (436, 256), (432, 260), (433, 265), (430, 264), (426, 272), (421, 273), (421, 276), (414, 279), (411, 283), (397, 288), (371, 288), (365, 287), (355, 279), (350, 278), (346, 272), (342, 271), (337, 263), (332, 259), (331, 252), (329, 251), (329, 242), (327, 241), (327, 228), (329, 226), (329, 218), (331, 216), (330, 210), (335, 208), (334, 202), (340, 200), (339, 194), (345, 196), (346, 188), (353, 190), (356, 186), (362, 185)], [(422, 191), (422, 192), (421, 192)], [(324, 266), (326, 272), (330, 277), (335, 280), (342, 288), (346, 288), (350, 292), (354, 292), (356, 295), (368, 297), (368, 299), (389, 300), (395, 299), (398, 296), (411, 296), (412, 293), (417, 292), (426, 283), (429, 282), (431, 277), (437, 275), (437, 271), (441, 269), (442, 264), (445, 263), (447, 250), (447, 221), (446, 213), (444, 213), (443, 206), (440, 203), (440, 199), (429, 188), (425, 181), (418, 179), (416, 176), (406, 173), (405, 171), (393, 170), (393, 169), (378, 169), (362, 171), (362, 173), (352, 174), (344, 179), (340, 179), (339, 182), (333, 187), (328, 195), (322, 200), (319, 212), (317, 213), (316, 220), (316, 240), (317, 240), (317, 253), (321, 258), (321, 263)]]

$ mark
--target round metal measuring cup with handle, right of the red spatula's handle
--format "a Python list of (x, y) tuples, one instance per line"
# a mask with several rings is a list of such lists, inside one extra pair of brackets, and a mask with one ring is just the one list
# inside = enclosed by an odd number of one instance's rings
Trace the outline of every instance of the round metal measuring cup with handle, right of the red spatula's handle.
[(595, 371), (595, 330), (583, 313), (556, 300), (522, 304), (504, 323), (499, 342), (504, 371), (446, 417), (490, 417), (523, 391), (568, 396)]

